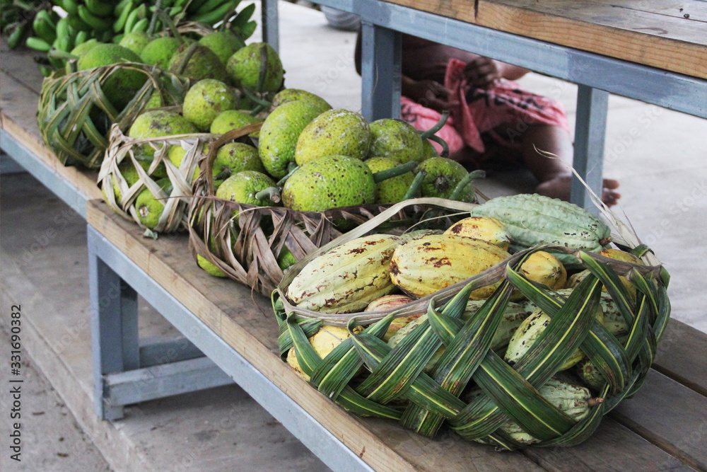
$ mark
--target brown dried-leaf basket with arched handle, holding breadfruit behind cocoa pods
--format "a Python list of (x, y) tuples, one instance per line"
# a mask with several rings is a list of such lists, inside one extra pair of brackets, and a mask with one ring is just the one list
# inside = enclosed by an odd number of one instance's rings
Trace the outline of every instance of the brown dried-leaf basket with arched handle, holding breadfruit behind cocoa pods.
[[(339, 207), (324, 212), (299, 212), (284, 207), (257, 207), (215, 197), (211, 168), (216, 151), (226, 142), (247, 142), (262, 123), (223, 134), (209, 146), (194, 183), (194, 199), (189, 205), (189, 246), (194, 258), (205, 258), (227, 277), (269, 297), (282, 280), (278, 255), (286, 247), (300, 260), (320, 246), (339, 238), (346, 229), (363, 224), (390, 205)], [(408, 205), (385, 223), (387, 229), (407, 228), (420, 221), (430, 208)], [(239, 212), (238, 223), (233, 212)], [(436, 213), (432, 224), (448, 226), (454, 211)], [(267, 221), (267, 224), (263, 224)], [(270, 225), (270, 221), (272, 224)], [(210, 241), (206, 244), (206, 241)]]

